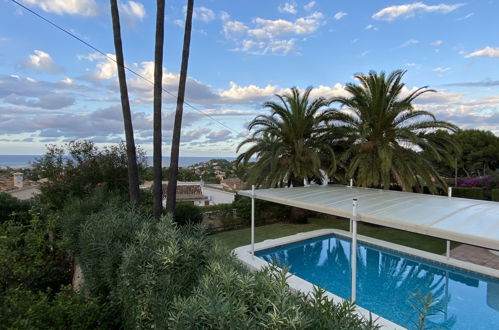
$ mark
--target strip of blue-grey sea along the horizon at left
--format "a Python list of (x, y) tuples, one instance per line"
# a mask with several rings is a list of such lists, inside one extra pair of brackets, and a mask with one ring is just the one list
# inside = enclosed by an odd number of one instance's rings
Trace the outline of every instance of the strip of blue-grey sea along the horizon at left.
[[(42, 155), (0, 155), (0, 168), (29, 168), (31, 163), (37, 158), (41, 158)], [(152, 166), (152, 157), (148, 156), (147, 164)], [(209, 161), (211, 159), (226, 159), (228, 161), (233, 161), (235, 157), (217, 157), (217, 156), (207, 156), (207, 157), (180, 157), (178, 165), (180, 167), (186, 167), (202, 162)], [(170, 157), (163, 157), (163, 167), (170, 166)]]

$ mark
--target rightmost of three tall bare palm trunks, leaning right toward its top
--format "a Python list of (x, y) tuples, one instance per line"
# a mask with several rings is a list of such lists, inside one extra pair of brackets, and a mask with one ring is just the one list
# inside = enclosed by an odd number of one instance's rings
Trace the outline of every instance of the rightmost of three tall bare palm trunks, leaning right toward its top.
[(175, 124), (173, 126), (172, 152), (170, 160), (170, 180), (166, 195), (166, 211), (175, 212), (177, 198), (177, 174), (178, 155), (180, 149), (180, 132), (182, 128), (182, 112), (184, 111), (185, 83), (187, 80), (187, 65), (189, 63), (189, 47), (191, 45), (192, 11), (194, 0), (187, 1), (187, 15), (185, 18), (184, 48), (182, 52), (182, 65), (180, 68), (180, 80), (178, 83), (177, 110), (175, 112)]

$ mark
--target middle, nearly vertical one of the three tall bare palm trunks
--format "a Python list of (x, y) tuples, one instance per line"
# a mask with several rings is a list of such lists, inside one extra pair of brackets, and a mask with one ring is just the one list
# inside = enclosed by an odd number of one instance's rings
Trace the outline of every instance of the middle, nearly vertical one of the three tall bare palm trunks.
[(163, 42), (165, 34), (165, 0), (157, 0), (156, 46), (154, 49), (154, 217), (163, 211), (163, 176), (161, 153), (161, 94), (163, 90)]

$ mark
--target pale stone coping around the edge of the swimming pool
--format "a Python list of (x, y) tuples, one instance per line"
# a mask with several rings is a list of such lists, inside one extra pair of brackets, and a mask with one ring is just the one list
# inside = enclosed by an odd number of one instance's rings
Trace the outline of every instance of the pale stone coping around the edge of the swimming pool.
[[(318, 230), (313, 230), (309, 232), (304, 232), (304, 233), (298, 233), (290, 236), (285, 236), (285, 237), (280, 237), (280, 238), (275, 238), (275, 239), (269, 239), (265, 240), (263, 242), (255, 243), (255, 252), (261, 251), (261, 250), (267, 250), (271, 249), (274, 247), (278, 247), (281, 245), (286, 245), (286, 244), (291, 244), (299, 241), (303, 241), (306, 239), (310, 238), (315, 238), (319, 236), (324, 236), (324, 235), (330, 235), (330, 234), (336, 234), (344, 237), (351, 238), (351, 234), (348, 231), (340, 230), (340, 229), (318, 229)], [(446, 266), (452, 266), (452, 267), (457, 267), (460, 269), (463, 269), (465, 271), (470, 271), (473, 273), (478, 273), (479, 275), (485, 275), (489, 276), (492, 278), (499, 279), (499, 271), (476, 265), (470, 262), (466, 261), (461, 261), (453, 258), (447, 258), (446, 256), (438, 255), (435, 253), (430, 253), (414, 248), (410, 248), (407, 246), (399, 245), (399, 244), (394, 244), (390, 243), (387, 241), (379, 240), (376, 238), (372, 237), (367, 237), (363, 235), (357, 235), (357, 239), (359, 241), (363, 241), (368, 244), (373, 244), (380, 246), (382, 248), (386, 248), (389, 250), (394, 250), (396, 252), (402, 252), (406, 253), (418, 258), (423, 258), (427, 259), (432, 262), (437, 262), (444, 264)], [(233, 250), (235, 256), (250, 270), (250, 271), (259, 271), (263, 269), (264, 267), (269, 266), (269, 263), (266, 262), (265, 260), (255, 257), (251, 254), (251, 245), (245, 245), (241, 246), (238, 248), (235, 248)], [(314, 287), (315, 285), (296, 276), (296, 275), (291, 275), (288, 280), (288, 285), (293, 291), (298, 291), (302, 292), (306, 295), (312, 295), (314, 292)], [(338, 297), (337, 295), (333, 294), (332, 292), (326, 291), (326, 296), (333, 302), (335, 303), (340, 303), (344, 301), (345, 299)], [(369, 319), (369, 317), (372, 317), (374, 320), (376, 320), (376, 323), (383, 328), (388, 328), (388, 329), (406, 329), (390, 320), (387, 320), (375, 313), (370, 312), (369, 310), (362, 308), (360, 306), (356, 306), (356, 313), (365, 318)]]

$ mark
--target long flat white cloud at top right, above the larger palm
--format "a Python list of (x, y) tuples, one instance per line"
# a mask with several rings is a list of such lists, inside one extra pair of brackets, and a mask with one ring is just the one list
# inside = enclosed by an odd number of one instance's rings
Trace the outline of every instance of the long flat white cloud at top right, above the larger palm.
[(375, 13), (372, 18), (381, 21), (393, 21), (397, 18), (409, 18), (415, 16), (417, 13), (450, 13), (459, 7), (463, 6), (462, 3), (447, 5), (426, 5), (423, 2), (415, 2), (407, 5), (396, 5), (381, 9)]

